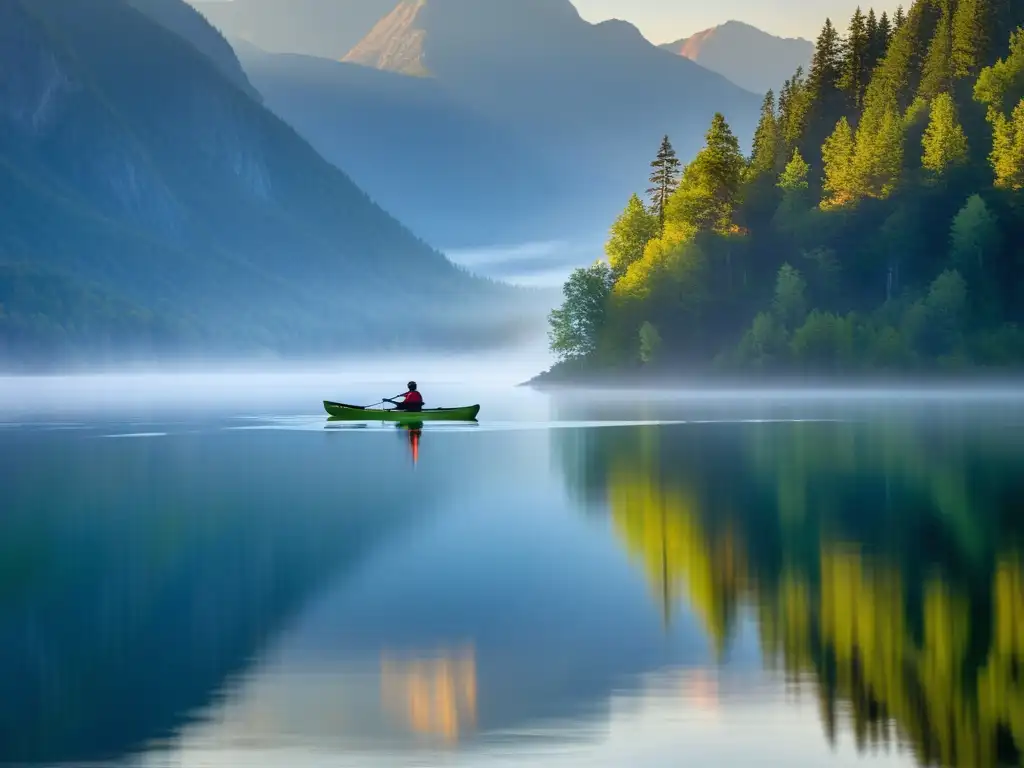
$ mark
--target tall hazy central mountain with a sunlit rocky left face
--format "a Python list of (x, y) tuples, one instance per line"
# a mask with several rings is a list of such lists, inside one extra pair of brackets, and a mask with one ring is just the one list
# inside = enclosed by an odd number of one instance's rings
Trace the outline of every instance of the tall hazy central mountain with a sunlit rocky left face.
[(723, 112), (745, 141), (760, 105), (625, 22), (585, 22), (568, 0), (402, 0), (344, 61), (436, 81), (519, 137), (571, 187), (563, 226), (610, 215), (646, 185), (637, 169), (664, 134), (686, 157)]

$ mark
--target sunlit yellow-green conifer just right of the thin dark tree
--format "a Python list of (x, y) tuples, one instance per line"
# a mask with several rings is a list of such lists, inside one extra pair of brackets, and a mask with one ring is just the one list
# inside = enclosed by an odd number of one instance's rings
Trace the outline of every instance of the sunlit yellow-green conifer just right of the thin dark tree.
[(686, 167), (669, 202), (669, 217), (697, 231), (731, 230), (745, 165), (739, 141), (725, 118), (716, 113), (705, 147)]

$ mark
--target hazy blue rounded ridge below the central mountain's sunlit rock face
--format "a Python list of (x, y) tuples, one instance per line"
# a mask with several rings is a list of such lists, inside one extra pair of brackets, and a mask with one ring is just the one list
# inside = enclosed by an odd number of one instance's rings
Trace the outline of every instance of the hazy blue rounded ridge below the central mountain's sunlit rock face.
[(266, 104), (429, 242), (518, 243), (557, 229), (571, 186), (436, 80), (237, 47)]

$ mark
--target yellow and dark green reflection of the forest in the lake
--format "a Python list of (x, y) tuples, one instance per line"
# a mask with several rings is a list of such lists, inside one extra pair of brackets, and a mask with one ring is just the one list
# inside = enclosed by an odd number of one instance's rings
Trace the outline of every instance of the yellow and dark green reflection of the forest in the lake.
[(1020, 432), (690, 425), (565, 447), (586, 498), (605, 486), (663, 613), (685, 602), (724, 652), (755, 609), (766, 663), (813, 681), (829, 739), (898, 738), (922, 765), (1022, 763)]

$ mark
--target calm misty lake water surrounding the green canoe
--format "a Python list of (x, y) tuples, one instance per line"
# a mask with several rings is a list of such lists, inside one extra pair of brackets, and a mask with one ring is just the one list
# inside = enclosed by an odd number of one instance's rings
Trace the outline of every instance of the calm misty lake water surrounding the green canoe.
[(0, 764), (1024, 765), (1024, 396), (422, 384), (0, 383)]

